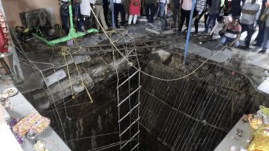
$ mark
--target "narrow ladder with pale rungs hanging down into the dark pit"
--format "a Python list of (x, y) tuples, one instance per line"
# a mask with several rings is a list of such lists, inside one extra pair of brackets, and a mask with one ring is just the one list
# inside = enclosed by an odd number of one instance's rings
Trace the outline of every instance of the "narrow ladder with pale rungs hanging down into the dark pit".
[[(126, 58), (130, 62), (137, 63), (137, 69), (128, 65), (128, 78), (117, 84), (117, 100), (118, 100), (118, 115), (119, 115), (119, 150), (139, 150), (139, 119), (140, 119), (140, 89), (141, 89), (141, 73), (139, 59), (136, 49), (128, 51), (126, 49)], [(133, 59), (133, 61), (131, 61)], [(130, 70), (135, 72), (130, 73)], [(135, 89), (132, 89), (130, 84), (137, 82)], [(128, 93), (123, 91), (128, 89)], [(121, 98), (122, 97), (122, 98)]]

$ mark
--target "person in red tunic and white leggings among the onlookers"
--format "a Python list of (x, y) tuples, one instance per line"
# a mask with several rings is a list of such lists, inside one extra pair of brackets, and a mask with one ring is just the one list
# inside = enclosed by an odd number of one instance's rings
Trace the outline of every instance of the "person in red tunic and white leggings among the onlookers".
[(130, 0), (128, 25), (131, 25), (132, 18), (134, 18), (133, 23), (136, 24), (138, 15), (140, 15), (140, 1)]

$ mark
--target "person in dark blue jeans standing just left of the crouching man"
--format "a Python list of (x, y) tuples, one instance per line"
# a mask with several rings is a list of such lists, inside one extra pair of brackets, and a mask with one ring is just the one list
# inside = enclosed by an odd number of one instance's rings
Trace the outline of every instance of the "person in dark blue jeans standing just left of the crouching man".
[(213, 0), (209, 8), (209, 16), (206, 21), (206, 34), (208, 34), (209, 27), (214, 27), (216, 19), (219, 16), (219, 9), (221, 5), (221, 0)]

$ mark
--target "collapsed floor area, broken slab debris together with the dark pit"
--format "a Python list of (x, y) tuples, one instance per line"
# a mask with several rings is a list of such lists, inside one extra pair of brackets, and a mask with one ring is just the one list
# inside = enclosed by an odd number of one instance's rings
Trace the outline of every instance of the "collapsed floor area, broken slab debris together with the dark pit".
[[(32, 60), (30, 66), (36, 65), (39, 70), (30, 69), (28, 60), (21, 58), (29, 78), (18, 85), (19, 89), (42, 115), (52, 119), (52, 128), (72, 150), (119, 148), (117, 73), (119, 81), (123, 81), (135, 70), (128, 70), (128, 62), (111, 45), (102, 43), (68, 48), (71, 55), (66, 60), (63, 49), (48, 49), (52, 53), (46, 54), (46, 47), (28, 44), (25, 47), (39, 46), (42, 50), (27, 52)], [(175, 36), (161, 40), (144, 37), (135, 43), (118, 43), (117, 47), (125, 54), (136, 48), (143, 71), (172, 79), (191, 73), (204, 61), (190, 54), (182, 69), (182, 51), (178, 47), (182, 43), (183, 38)], [(136, 66), (135, 59), (133, 62)], [(232, 62), (220, 65), (209, 61), (187, 78), (172, 82), (141, 74), (140, 150), (214, 150), (243, 114), (256, 111), (260, 104), (268, 105), (264, 102), (268, 96), (255, 89), (261, 76), (242, 73), (240, 65), (231, 66)], [(66, 77), (46, 86), (48, 81), (40, 73), (48, 77), (60, 70)], [(137, 87), (136, 80), (121, 91), (121, 97)], [(83, 85), (90, 91), (93, 103)], [(131, 101), (136, 102), (138, 95), (135, 93)]]

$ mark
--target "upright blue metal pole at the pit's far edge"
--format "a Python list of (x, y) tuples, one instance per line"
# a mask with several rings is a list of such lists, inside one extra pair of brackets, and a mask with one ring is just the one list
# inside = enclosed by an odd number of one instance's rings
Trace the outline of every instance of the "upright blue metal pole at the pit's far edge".
[(195, 11), (195, 3), (196, 3), (196, 0), (192, 0), (192, 10), (190, 11), (190, 21), (188, 25), (188, 33), (187, 33), (186, 45), (185, 45), (184, 55), (183, 55), (183, 67), (186, 64), (187, 55), (188, 55), (188, 45), (190, 42), (190, 30), (192, 28), (192, 16), (193, 16), (193, 12)]

